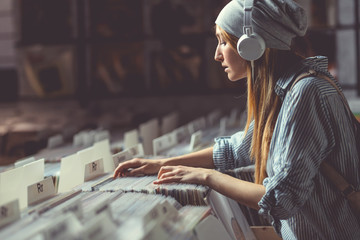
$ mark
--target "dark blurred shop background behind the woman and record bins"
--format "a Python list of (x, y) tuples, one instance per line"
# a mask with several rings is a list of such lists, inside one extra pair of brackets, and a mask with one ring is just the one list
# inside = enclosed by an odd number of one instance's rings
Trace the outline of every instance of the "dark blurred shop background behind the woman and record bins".
[[(1, 0), (0, 164), (55, 133), (124, 131), (171, 111), (180, 124), (245, 106), (213, 59), (228, 0)], [(304, 55), (325, 55), (348, 98), (360, 94), (358, 0), (298, 0)]]

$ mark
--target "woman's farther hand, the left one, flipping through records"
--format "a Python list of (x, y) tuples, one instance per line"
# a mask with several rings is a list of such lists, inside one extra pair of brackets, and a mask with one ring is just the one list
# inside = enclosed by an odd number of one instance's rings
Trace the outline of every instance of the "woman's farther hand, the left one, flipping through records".
[(120, 163), (114, 171), (114, 178), (157, 174), (161, 166), (162, 160), (160, 159), (134, 158)]

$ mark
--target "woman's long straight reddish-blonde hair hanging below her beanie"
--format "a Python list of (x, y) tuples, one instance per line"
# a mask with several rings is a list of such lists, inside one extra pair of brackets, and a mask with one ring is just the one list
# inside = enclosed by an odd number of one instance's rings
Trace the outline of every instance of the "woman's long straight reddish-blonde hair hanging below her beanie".
[[(234, 49), (238, 38), (225, 32), (219, 26), (221, 37)], [(251, 64), (247, 63), (247, 122), (245, 133), (254, 120), (250, 157), (255, 160), (255, 183), (261, 184), (266, 174), (266, 163), (270, 142), (282, 102), (275, 93), (275, 84), (286, 69), (301, 57), (292, 51), (267, 48), (261, 58), (254, 62), (254, 76), (251, 79)]]

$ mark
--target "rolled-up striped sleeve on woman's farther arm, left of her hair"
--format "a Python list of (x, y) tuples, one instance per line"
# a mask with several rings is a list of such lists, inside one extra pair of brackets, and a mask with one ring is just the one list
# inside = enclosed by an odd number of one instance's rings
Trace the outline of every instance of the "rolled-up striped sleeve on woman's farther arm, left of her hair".
[(243, 131), (240, 131), (229, 137), (218, 137), (215, 139), (213, 160), (218, 170), (225, 171), (253, 164), (250, 161), (253, 127), (254, 124), (252, 122), (246, 135)]

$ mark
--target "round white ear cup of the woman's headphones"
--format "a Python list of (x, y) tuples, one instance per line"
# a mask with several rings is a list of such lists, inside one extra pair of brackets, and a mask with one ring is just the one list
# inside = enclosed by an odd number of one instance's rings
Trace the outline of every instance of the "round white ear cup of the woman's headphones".
[(237, 50), (243, 59), (254, 61), (263, 55), (265, 51), (265, 41), (256, 33), (250, 36), (244, 34), (237, 43)]

